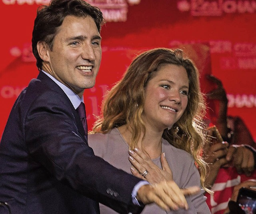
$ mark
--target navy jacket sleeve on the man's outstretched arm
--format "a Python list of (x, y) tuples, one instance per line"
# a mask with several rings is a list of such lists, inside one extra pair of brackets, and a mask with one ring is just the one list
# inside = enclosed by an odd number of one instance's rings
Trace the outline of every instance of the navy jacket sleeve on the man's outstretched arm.
[(131, 196), (140, 179), (94, 155), (78, 131), (76, 111), (70, 109), (69, 100), (54, 90), (35, 87), (27, 91), (21, 111), (26, 114), (22, 126), (32, 158), (88, 198), (120, 213), (140, 213), (143, 207), (135, 206)]

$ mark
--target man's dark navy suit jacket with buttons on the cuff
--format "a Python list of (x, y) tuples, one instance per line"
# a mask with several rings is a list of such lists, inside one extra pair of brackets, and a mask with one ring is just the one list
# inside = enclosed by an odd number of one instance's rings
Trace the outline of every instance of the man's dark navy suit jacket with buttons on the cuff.
[(31, 80), (0, 143), (0, 201), (12, 214), (96, 214), (98, 202), (139, 213), (131, 200), (139, 181), (94, 155), (78, 112), (53, 80), (43, 72)]

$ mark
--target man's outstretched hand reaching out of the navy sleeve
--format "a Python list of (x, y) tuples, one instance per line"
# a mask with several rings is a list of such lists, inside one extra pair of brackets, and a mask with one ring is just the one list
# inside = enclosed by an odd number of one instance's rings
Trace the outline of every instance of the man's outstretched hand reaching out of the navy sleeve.
[(137, 192), (137, 200), (143, 204), (156, 203), (162, 209), (169, 211), (180, 208), (188, 210), (185, 196), (197, 194), (198, 186), (181, 190), (174, 181), (162, 181), (158, 184), (144, 185)]

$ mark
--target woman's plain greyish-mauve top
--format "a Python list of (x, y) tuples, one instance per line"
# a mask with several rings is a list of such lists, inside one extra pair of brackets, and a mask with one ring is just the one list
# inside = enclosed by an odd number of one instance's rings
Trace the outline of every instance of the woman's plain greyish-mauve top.
[[(131, 174), (131, 163), (128, 160), (129, 146), (122, 137), (117, 128), (114, 128), (107, 134), (89, 134), (88, 143), (94, 150), (95, 155), (102, 157), (104, 160)], [(200, 175), (194, 164), (194, 159), (188, 152), (175, 148), (166, 140), (162, 140), (162, 152), (172, 170), (173, 179), (180, 188), (190, 186), (200, 186)], [(160, 157), (152, 160), (158, 167), (161, 167)], [(189, 210), (180, 209), (170, 211), (168, 214), (210, 214), (206, 204), (206, 197), (202, 190), (199, 194), (187, 196)], [(101, 214), (116, 214), (114, 210), (100, 204)], [(164, 210), (156, 204), (147, 205), (142, 214), (166, 214)]]

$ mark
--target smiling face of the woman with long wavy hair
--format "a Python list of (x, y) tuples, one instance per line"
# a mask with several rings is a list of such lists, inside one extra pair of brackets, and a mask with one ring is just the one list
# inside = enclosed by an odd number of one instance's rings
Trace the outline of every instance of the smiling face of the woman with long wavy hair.
[(188, 104), (188, 74), (184, 67), (163, 64), (145, 89), (143, 120), (146, 126), (163, 131), (173, 126)]

